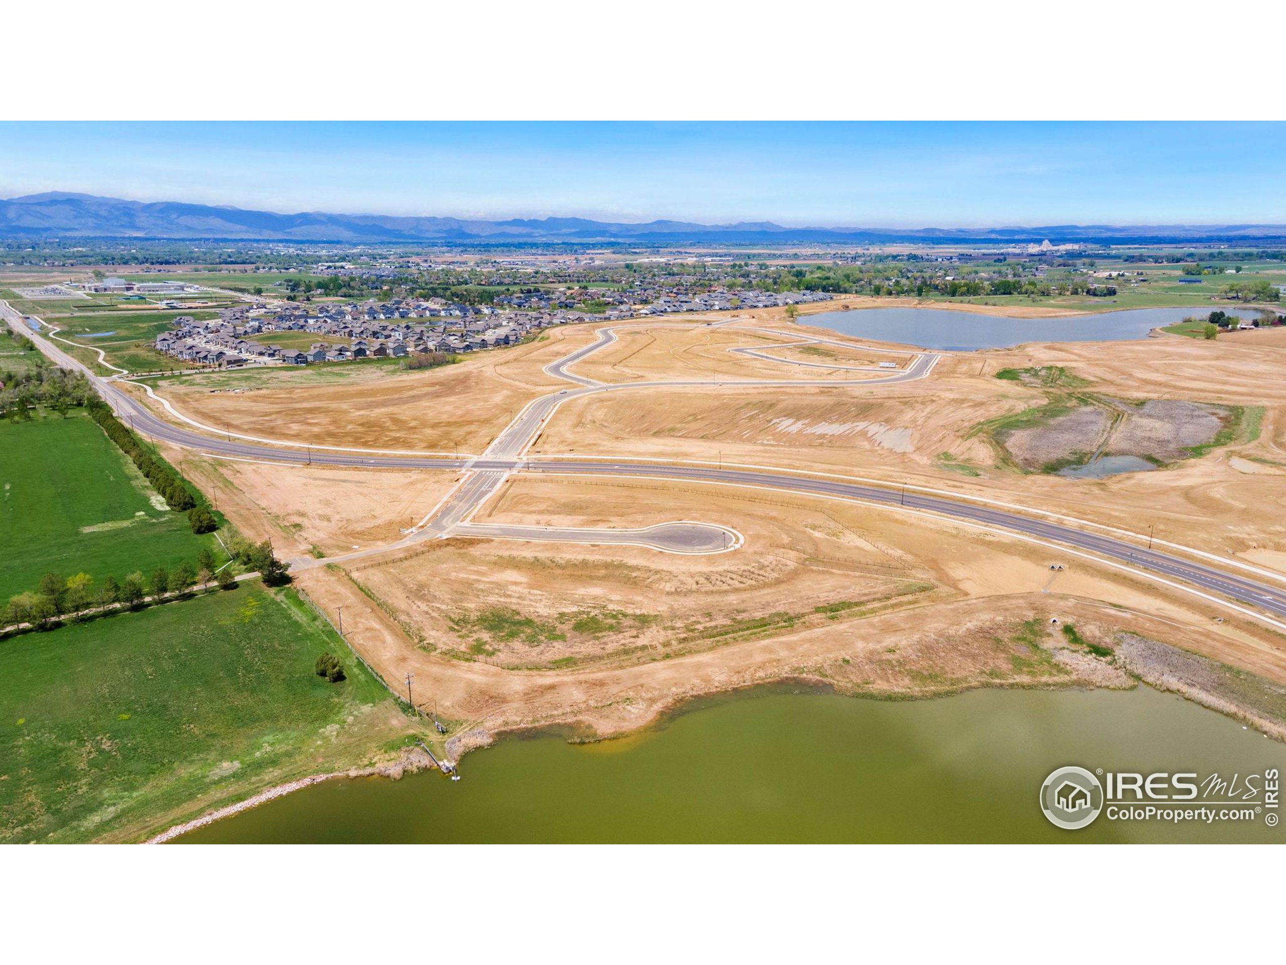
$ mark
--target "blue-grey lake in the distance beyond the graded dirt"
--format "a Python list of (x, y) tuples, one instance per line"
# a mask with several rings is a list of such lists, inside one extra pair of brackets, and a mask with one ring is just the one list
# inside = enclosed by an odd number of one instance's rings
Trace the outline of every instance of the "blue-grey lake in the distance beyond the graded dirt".
[[(916, 345), (921, 349), (972, 351), (1006, 349), (1024, 342), (1120, 342), (1146, 338), (1160, 326), (1191, 315), (1208, 315), (1210, 308), (1127, 309), (1096, 315), (1065, 318), (1004, 318), (950, 309), (854, 309), (800, 315), (806, 326), (882, 342)], [(1254, 309), (1222, 309), (1226, 314), (1258, 318)]]

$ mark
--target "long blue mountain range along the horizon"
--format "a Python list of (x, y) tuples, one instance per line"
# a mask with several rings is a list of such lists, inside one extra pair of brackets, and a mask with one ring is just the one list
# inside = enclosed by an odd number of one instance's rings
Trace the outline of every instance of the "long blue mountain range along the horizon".
[(283, 215), (237, 207), (46, 192), (0, 201), (0, 238), (176, 238), (385, 243), (617, 242), (634, 244), (784, 244), (820, 242), (945, 243), (1286, 243), (1286, 225), (1044, 225), (1012, 228), (783, 228), (770, 221), (592, 221), (583, 217), (399, 217), (306, 211)]

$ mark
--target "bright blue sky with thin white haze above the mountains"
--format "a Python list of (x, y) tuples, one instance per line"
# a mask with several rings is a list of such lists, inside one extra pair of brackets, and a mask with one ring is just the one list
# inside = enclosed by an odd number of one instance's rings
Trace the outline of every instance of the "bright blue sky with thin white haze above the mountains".
[(1286, 223), (1286, 124), (0, 124), (0, 197), (784, 225)]

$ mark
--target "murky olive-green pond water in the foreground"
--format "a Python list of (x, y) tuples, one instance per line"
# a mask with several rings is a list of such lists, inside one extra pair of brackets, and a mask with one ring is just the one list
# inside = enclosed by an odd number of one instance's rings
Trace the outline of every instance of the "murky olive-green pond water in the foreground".
[(1112, 822), (1065, 831), (1056, 767), (1286, 773), (1286, 746), (1181, 697), (974, 691), (880, 701), (781, 690), (689, 705), (601, 744), (507, 739), (437, 773), (337, 780), (190, 843), (1278, 841), (1281, 826)]

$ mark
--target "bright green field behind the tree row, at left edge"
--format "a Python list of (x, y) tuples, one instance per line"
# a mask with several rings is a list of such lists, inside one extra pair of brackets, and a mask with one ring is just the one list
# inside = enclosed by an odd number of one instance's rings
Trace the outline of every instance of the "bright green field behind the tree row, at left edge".
[(207, 546), (221, 556), (84, 413), (0, 425), (0, 600), (46, 573), (102, 583), (194, 562)]

